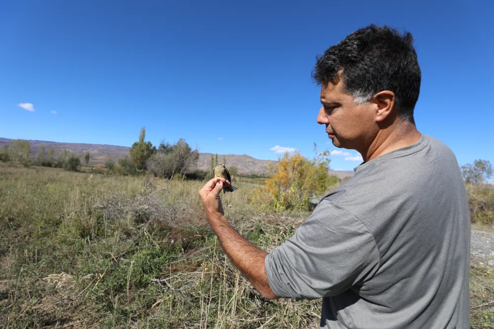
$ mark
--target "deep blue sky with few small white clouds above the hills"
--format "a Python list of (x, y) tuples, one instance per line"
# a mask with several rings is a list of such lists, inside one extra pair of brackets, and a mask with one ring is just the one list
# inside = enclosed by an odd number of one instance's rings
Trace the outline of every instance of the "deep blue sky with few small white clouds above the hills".
[[(146, 126), (156, 144), (312, 157), (314, 141), (334, 150), (316, 123), (315, 57), (375, 23), (415, 38), (419, 131), (460, 164), (494, 164), (493, 12), (489, 0), (2, 1), (0, 137), (130, 146)], [(332, 168), (360, 164), (340, 151)]]

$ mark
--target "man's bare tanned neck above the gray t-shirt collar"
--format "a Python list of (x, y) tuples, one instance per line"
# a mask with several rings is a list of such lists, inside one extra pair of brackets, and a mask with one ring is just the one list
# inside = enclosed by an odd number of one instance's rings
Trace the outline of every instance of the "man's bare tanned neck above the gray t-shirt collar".
[(394, 150), (398, 150), (415, 144), (422, 134), (418, 132), (413, 123), (400, 122), (385, 129), (379, 130), (371, 145), (361, 152), (364, 162), (369, 162), (377, 157)]

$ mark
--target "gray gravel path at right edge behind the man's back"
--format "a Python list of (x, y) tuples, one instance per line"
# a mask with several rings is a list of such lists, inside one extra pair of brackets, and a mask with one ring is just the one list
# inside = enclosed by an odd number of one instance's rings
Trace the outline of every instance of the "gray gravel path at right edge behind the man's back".
[(494, 268), (494, 233), (472, 229), (470, 260), (475, 265)]

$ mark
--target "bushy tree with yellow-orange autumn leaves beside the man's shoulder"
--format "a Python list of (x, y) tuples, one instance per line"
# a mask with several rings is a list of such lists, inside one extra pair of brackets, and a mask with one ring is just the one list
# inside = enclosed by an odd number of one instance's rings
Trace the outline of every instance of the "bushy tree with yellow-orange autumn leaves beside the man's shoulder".
[(328, 174), (329, 150), (318, 153), (309, 160), (300, 153), (285, 153), (276, 163), (269, 164), (271, 176), (260, 188), (261, 202), (274, 211), (309, 210), (311, 203), (325, 193), (338, 179)]

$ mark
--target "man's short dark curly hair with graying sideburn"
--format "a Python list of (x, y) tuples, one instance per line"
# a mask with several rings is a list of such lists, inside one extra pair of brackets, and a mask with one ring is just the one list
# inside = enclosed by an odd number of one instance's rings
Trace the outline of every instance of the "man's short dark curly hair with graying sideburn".
[(391, 90), (398, 116), (414, 122), (421, 74), (409, 32), (374, 24), (359, 29), (317, 56), (312, 78), (323, 85), (342, 78), (345, 92), (360, 104)]

